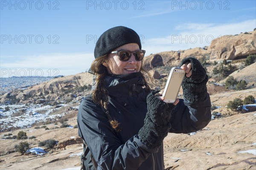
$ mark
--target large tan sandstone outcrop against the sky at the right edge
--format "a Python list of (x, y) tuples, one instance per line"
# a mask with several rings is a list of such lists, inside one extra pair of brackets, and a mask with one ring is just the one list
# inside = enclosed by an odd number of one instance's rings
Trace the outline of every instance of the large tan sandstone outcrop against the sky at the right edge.
[(237, 59), (256, 54), (256, 30), (249, 34), (225, 35), (212, 41), (210, 59)]

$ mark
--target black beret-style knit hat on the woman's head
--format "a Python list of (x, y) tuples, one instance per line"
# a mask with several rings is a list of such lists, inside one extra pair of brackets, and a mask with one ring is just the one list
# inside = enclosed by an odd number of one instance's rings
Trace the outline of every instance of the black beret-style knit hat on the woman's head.
[(124, 26), (110, 28), (96, 42), (94, 57), (110, 54), (114, 49), (129, 43), (137, 43), (141, 49), (140, 36), (134, 30)]

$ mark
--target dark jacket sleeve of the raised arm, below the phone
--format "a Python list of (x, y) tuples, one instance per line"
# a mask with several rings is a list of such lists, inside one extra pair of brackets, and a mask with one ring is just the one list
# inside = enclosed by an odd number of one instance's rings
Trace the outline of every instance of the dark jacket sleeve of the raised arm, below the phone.
[(200, 102), (180, 99), (172, 112), (170, 133), (191, 133), (203, 129), (211, 120), (211, 101), (209, 94)]

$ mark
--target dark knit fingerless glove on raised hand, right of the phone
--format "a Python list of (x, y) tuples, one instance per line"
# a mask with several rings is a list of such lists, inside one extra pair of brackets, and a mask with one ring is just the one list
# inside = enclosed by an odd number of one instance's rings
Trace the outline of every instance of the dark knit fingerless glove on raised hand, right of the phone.
[(208, 82), (208, 76), (205, 69), (198, 61), (198, 59), (189, 57), (183, 59), (181, 65), (190, 61), (192, 63), (192, 76), (184, 77), (182, 82), (183, 96), (188, 99), (189, 102), (198, 102), (204, 100), (207, 94), (206, 83)]

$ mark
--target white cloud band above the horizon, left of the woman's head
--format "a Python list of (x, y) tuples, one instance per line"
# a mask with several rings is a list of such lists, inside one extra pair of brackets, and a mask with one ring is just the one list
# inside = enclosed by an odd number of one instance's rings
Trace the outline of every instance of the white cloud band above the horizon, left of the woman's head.
[(1, 63), (1, 77), (4, 76), (2, 75), (3, 73), (6, 74), (8, 72), (19, 74), (19, 70), (22, 74), (26, 72), (26, 75), (33, 75), (35, 71), (38, 71), (40, 74), (43, 72), (45, 76), (49, 75), (49, 71), (54, 71), (52, 74), (58, 72), (60, 75), (77, 74), (88, 71), (94, 59), (93, 54), (88, 53), (58, 53), (26, 57), (19, 56), (19, 58), (22, 59), (19, 61)]

